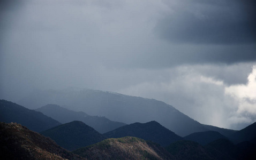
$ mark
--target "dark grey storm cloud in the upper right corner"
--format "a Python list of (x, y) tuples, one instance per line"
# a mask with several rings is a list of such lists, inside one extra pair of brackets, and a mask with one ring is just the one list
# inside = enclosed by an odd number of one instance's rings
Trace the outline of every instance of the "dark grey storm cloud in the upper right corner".
[(172, 43), (250, 44), (256, 42), (255, 2), (186, 1), (156, 25)]

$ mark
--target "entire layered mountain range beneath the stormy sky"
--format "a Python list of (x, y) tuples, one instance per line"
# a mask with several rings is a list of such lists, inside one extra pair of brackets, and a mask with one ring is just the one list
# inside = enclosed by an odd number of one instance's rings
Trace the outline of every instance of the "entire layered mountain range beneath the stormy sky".
[(0, 100), (1, 159), (256, 159), (256, 123), (223, 129), (161, 101), (95, 90), (20, 102)]

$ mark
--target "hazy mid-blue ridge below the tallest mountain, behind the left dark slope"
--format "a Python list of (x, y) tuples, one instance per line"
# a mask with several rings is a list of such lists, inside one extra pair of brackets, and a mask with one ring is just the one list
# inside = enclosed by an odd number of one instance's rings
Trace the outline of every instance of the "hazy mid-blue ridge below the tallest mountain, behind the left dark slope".
[(69, 123), (72, 121), (84, 122), (100, 133), (106, 133), (126, 125), (125, 123), (110, 121), (106, 117), (90, 116), (82, 111), (72, 111), (58, 105), (46, 105), (35, 110), (61, 123)]

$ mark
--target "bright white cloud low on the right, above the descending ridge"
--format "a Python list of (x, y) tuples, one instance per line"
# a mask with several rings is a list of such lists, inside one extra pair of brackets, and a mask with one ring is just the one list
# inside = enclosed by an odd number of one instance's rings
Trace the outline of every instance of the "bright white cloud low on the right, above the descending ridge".
[[(211, 69), (209, 65), (201, 67)], [(248, 76), (249, 83), (231, 86), (198, 68), (167, 69), (162, 74), (169, 76), (161, 82), (145, 79), (118, 92), (164, 101), (204, 124), (242, 129), (256, 120), (255, 67)]]

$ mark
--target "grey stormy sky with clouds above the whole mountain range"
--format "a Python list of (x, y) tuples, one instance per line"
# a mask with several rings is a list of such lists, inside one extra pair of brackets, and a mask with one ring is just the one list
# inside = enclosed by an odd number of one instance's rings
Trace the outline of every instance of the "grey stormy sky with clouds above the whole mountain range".
[(256, 122), (253, 0), (0, 3), (0, 99), (78, 87), (161, 100), (203, 124)]

